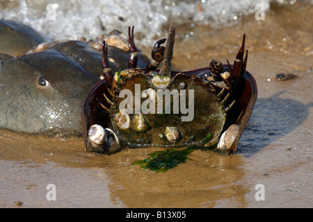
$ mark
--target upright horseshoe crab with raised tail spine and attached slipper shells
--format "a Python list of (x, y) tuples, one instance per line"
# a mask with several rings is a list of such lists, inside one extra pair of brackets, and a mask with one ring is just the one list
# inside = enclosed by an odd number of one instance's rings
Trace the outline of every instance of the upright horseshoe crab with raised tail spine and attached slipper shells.
[(236, 151), (257, 99), (255, 79), (246, 71), (248, 51), (243, 59), (245, 35), (234, 65), (212, 60), (209, 67), (182, 72), (171, 70), (174, 42), (172, 23), (167, 40), (157, 42), (152, 60), (141, 69), (134, 27), (129, 28), (129, 69), (114, 75), (103, 42), (105, 78), (90, 90), (81, 114), (86, 151), (115, 153), (147, 146)]

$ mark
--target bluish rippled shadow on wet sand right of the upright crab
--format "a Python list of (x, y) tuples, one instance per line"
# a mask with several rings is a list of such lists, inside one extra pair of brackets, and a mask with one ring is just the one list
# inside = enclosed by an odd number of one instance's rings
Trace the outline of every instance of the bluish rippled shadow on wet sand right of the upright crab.
[(307, 118), (313, 103), (304, 105), (292, 99), (258, 98), (246, 129), (241, 136), (238, 153), (249, 157), (275, 140), (291, 133)]

